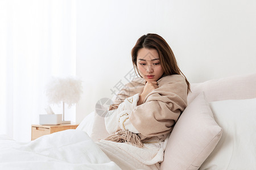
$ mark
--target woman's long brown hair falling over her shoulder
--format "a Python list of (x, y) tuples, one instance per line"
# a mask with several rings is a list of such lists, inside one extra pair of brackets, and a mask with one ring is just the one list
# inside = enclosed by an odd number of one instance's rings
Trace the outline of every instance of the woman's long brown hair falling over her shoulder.
[[(188, 86), (187, 92), (191, 91), (190, 84), (189, 84), (187, 78), (185, 77), (185, 75), (180, 71), (171, 47), (168, 45), (166, 40), (163, 39), (163, 37), (161, 37), (155, 33), (148, 33), (147, 35), (141, 36), (137, 40), (136, 44), (134, 45), (133, 49), (131, 50), (131, 58), (133, 60), (134, 70), (136, 69), (138, 74), (139, 74), (139, 70), (137, 67), (137, 54), (138, 54), (139, 49), (141, 49), (141, 48), (155, 49), (158, 52), (158, 55), (160, 58), (160, 65), (163, 68), (164, 74), (165, 75), (182, 74), (184, 76), (185, 81)], [(135, 71), (135, 73), (136, 73), (136, 71)], [(139, 74), (139, 76), (141, 76), (141, 75)]]

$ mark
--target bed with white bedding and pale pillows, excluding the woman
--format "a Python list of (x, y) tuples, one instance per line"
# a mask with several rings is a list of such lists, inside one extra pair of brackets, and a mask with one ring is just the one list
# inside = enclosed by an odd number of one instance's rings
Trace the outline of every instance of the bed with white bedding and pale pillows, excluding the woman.
[(158, 165), (143, 168), (123, 151), (112, 151), (121, 158), (113, 162), (108, 146), (99, 144), (109, 135), (104, 117), (92, 112), (76, 130), (35, 141), (1, 135), (0, 169), (256, 169), (256, 74), (195, 83), (191, 90)]

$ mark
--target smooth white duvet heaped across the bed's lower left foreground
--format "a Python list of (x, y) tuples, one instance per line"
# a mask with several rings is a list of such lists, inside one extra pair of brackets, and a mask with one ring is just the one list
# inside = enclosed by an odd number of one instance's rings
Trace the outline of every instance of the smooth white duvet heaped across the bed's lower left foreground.
[(0, 169), (121, 169), (81, 130), (44, 135), (31, 142), (0, 136)]

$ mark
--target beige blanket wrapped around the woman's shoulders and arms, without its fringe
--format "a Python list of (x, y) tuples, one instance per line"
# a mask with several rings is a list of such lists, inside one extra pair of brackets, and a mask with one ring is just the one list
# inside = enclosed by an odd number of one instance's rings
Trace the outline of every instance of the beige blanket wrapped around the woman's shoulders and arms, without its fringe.
[[(187, 107), (187, 84), (182, 75), (163, 76), (157, 82), (159, 87), (130, 113), (129, 120), (139, 131), (141, 140), (170, 133)], [(127, 97), (141, 94), (145, 83), (143, 78), (135, 78), (126, 84), (109, 110), (117, 109)]]

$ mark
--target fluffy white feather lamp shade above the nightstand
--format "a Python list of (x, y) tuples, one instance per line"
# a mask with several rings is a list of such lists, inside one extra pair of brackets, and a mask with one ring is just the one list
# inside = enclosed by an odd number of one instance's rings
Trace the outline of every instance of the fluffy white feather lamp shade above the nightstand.
[(46, 96), (51, 104), (61, 102), (71, 107), (78, 103), (82, 94), (82, 81), (76, 77), (52, 78), (46, 85)]

